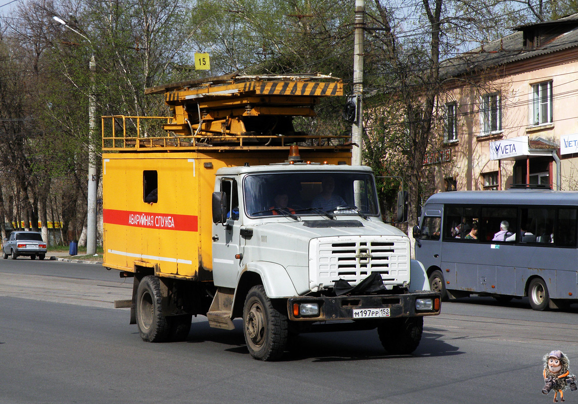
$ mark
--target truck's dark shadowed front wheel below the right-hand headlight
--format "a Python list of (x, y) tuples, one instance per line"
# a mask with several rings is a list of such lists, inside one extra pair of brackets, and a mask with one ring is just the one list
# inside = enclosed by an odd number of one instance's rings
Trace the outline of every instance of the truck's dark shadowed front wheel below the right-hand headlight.
[(424, 317), (381, 321), (377, 334), (384, 349), (394, 355), (407, 355), (420, 345), (424, 331)]

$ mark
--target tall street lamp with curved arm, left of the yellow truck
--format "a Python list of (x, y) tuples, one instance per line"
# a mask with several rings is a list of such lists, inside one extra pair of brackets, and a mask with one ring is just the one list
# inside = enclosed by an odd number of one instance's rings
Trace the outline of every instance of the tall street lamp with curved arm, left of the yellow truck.
[(64, 27), (76, 32), (90, 43), (92, 53), (90, 56), (90, 93), (88, 94), (88, 192), (87, 192), (87, 223), (86, 223), (86, 254), (94, 255), (97, 252), (97, 151), (94, 147), (95, 134), (97, 130), (97, 100), (95, 89), (95, 73), (97, 63), (94, 61), (94, 48), (92, 42), (83, 33), (76, 31), (66, 21), (57, 16), (52, 17), (54, 21), (64, 25)]

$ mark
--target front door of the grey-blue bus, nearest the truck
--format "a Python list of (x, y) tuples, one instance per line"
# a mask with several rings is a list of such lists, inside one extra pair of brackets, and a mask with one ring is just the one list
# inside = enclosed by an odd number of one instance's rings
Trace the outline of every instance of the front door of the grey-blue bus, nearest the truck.
[(430, 268), (442, 262), (442, 211), (443, 205), (425, 205), (420, 223), (420, 242), (416, 243), (416, 259)]

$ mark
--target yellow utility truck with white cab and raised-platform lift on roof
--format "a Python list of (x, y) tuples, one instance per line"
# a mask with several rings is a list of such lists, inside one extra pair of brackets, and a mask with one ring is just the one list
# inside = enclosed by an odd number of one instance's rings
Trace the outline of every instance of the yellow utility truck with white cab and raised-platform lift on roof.
[(342, 81), (228, 75), (146, 93), (172, 116), (102, 118), (103, 265), (134, 278), (118, 306), (144, 341), (183, 340), (203, 315), (227, 330), (241, 318), (260, 360), (319, 329), (417, 348), (440, 295), (382, 222), (372, 170), (351, 166), (349, 137), (294, 128)]

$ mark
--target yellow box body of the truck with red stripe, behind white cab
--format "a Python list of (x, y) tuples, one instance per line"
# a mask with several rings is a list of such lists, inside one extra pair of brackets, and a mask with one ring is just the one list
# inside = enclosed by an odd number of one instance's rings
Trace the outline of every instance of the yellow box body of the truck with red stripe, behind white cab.
[[(221, 167), (279, 163), (285, 151), (119, 152), (103, 154), (103, 265), (212, 280), (212, 193)], [(351, 163), (346, 151), (301, 152), (311, 162)], [(157, 171), (158, 201), (144, 201), (143, 172)]]

